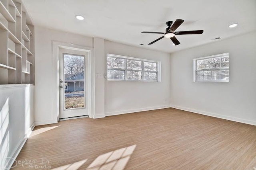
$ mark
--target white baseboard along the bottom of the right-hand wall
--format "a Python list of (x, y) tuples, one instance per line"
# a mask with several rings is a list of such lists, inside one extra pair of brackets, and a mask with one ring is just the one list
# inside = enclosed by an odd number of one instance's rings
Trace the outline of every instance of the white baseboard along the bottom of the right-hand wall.
[(200, 110), (196, 110), (196, 109), (190, 109), (190, 108), (174, 106), (174, 105), (170, 105), (170, 107), (172, 107), (174, 109), (180, 109), (180, 110), (184, 110), (184, 111), (190, 111), (190, 112), (193, 112), (193, 113), (198, 113), (198, 114), (201, 114), (201, 115), (207, 115), (207, 116), (211, 116), (211, 117), (217, 117), (217, 118), (220, 118), (220, 119), (226, 119), (226, 120), (231, 120), (231, 121), (236, 121), (236, 122), (246, 123), (246, 124), (249, 124), (249, 125), (256, 126), (256, 121), (251, 121), (251, 120), (246, 120), (246, 119), (241, 119), (241, 118), (231, 117), (231, 116), (226, 116), (226, 115), (220, 115), (220, 114), (216, 114), (216, 113), (210, 113), (210, 112), (206, 112), (206, 111), (200, 111)]

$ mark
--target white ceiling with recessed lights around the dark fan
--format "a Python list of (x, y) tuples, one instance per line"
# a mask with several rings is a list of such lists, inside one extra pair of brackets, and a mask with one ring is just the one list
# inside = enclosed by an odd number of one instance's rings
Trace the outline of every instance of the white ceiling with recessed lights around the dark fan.
[[(24, 0), (35, 25), (101, 37), (109, 41), (172, 53), (256, 30), (256, 0)], [(85, 20), (76, 20), (82, 15)], [(185, 20), (176, 31), (203, 29), (202, 35), (176, 35), (147, 45), (164, 32), (166, 21)], [(239, 23), (238, 27), (228, 25)]]

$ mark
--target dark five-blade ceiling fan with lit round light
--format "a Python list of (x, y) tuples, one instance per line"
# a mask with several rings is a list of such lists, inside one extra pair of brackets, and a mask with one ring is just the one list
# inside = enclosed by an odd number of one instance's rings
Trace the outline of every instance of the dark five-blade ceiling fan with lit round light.
[(151, 45), (153, 43), (155, 43), (156, 41), (159, 41), (160, 39), (166, 37), (166, 38), (170, 38), (172, 40), (172, 42), (174, 43), (174, 45), (179, 45), (180, 42), (178, 41), (178, 39), (176, 39), (176, 37), (174, 37), (174, 35), (185, 35), (185, 34), (202, 34), (204, 32), (204, 30), (195, 30), (195, 31), (178, 31), (178, 32), (174, 32), (182, 23), (184, 22), (184, 20), (180, 20), (177, 19), (173, 25), (172, 25), (172, 21), (168, 21), (166, 22), (166, 25), (168, 26), (165, 29), (165, 33), (162, 32), (148, 32), (148, 31), (143, 31), (141, 33), (157, 33), (157, 34), (164, 34), (164, 36), (156, 39), (155, 41), (152, 41), (151, 43), (149, 43), (148, 45)]

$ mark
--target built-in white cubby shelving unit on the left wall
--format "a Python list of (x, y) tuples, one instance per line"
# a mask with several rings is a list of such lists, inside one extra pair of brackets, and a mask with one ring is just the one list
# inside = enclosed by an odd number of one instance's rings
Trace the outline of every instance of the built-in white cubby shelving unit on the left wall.
[(34, 84), (34, 25), (22, 0), (0, 0), (0, 84)]

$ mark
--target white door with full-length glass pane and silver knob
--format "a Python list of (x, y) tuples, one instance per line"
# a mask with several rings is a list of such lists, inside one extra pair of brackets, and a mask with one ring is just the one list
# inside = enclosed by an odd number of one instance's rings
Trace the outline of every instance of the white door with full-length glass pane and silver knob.
[(89, 113), (89, 54), (62, 49), (60, 59), (60, 116), (77, 117)]

